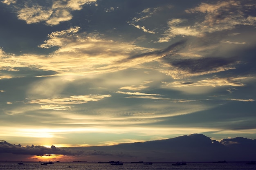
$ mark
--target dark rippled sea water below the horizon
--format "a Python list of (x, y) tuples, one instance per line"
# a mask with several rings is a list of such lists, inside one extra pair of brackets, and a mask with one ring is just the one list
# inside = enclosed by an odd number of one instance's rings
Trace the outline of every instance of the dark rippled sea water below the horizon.
[(18, 162), (0, 162), (0, 170), (256, 170), (256, 165), (247, 165), (245, 162), (187, 163), (182, 166), (172, 166), (172, 163), (124, 163), (122, 166), (87, 162), (55, 162), (53, 165), (23, 163), (24, 165), (18, 165)]

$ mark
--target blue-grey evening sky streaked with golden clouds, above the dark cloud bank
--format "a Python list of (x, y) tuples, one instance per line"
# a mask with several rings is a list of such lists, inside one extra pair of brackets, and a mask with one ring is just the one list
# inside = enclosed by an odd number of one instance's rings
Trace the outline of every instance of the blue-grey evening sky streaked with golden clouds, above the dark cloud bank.
[(0, 140), (256, 139), (254, 0), (1, 0)]

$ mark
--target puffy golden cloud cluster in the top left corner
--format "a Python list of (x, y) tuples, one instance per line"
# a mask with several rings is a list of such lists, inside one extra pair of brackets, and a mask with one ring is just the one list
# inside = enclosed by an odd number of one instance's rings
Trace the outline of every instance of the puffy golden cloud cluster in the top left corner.
[(7, 5), (13, 5), (18, 18), (25, 20), (27, 24), (45, 22), (49, 26), (71, 20), (71, 11), (81, 10), (83, 5), (92, 2), (96, 2), (96, 0), (68, 0), (65, 2), (61, 0), (47, 0), (45, 3), (30, 0), (21, 4), (18, 4), (16, 1), (3, 1)]

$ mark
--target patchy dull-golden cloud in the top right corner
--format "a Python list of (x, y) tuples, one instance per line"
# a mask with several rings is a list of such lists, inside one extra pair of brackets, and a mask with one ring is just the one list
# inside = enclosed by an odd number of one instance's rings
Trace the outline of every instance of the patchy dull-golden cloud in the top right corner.
[(255, 10), (252, 1), (218, 1), (217, 3), (202, 2), (198, 7), (187, 9), (186, 13), (202, 13), (204, 17), (200, 20), (188, 22), (186, 19), (170, 19), (168, 29), (164, 37), (158, 42), (168, 42), (175, 36), (202, 37), (204, 33), (231, 30), (239, 25), (255, 26), (256, 17), (248, 16), (249, 11)]

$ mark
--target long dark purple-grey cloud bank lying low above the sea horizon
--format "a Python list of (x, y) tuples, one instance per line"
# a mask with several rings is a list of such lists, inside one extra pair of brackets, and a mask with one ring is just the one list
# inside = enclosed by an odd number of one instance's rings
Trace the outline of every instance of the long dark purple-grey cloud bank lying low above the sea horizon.
[(18, 155), (72, 155), (94, 161), (251, 161), (256, 159), (256, 139), (235, 137), (211, 140), (202, 134), (184, 135), (172, 139), (146, 141), (114, 146), (92, 146), (72, 148), (46, 148), (44, 146), (26, 146), (0, 142), (0, 154)]

